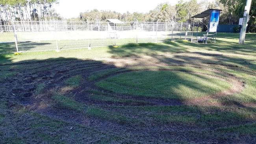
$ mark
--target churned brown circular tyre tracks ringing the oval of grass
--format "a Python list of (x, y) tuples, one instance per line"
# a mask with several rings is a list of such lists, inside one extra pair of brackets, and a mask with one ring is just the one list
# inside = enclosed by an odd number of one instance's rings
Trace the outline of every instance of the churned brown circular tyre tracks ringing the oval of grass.
[[(104, 120), (95, 118), (92, 116), (86, 116), (79, 112), (75, 112), (69, 109), (63, 109), (59, 107), (54, 100), (52, 100), (52, 95), (56, 92), (67, 95), (72, 100), (76, 102), (83, 103), (89, 106), (102, 107), (103, 109), (109, 111), (116, 111), (115, 107), (127, 107), (126, 109), (132, 107), (144, 107), (144, 106), (174, 106), (174, 105), (219, 105), (219, 103), (210, 102), (210, 99), (218, 99), (232, 94), (240, 92), (245, 83), (235, 76), (221, 72), (214, 68), (203, 67), (198, 65), (181, 65), (178, 64), (157, 64), (157, 66), (180, 66), (180, 67), (191, 67), (191, 68), (204, 68), (204, 70), (215, 72), (216, 75), (192, 72), (189, 70), (177, 70), (168, 68), (140, 68), (133, 69), (136, 67), (126, 66), (125, 68), (118, 68), (113, 64), (106, 64), (99, 61), (81, 61), (81, 60), (61, 60), (59, 63), (55, 61), (47, 61), (47, 63), (29, 63), (23, 64), (30, 66), (27, 70), (20, 70), (20, 72), (15, 76), (15, 78), (7, 81), (5, 83), (7, 95), (12, 96), (11, 99), (18, 101), (22, 105), (28, 106), (31, 110), (36, 111), (41, 114), (45, 114), (52, 118), (66, 120), (69, 122), (75, 122), (77, 124), (84, 124), (93, 127), (104, 133), (113, 133), (123, 138), (134, 139), (137, 142), (140, 140), (145, 140), (145, 138), (158, 139), (158, 135), (162, 135), (169, 138), (176, 138), (176, 134), (166, 133), (165, 131), (173, 131), (173, 129), (181, 129), (181, 126), (173, 125), (169, 127), (167, 125), (159, 125), (148, 122), (147, 124), (118, 124), (110, 120)], [(136, 66), (156, 66), (152, 63), (151, 65), (136, 65)], [(89, 77), (94, 74), (99, 74), (104, 70), (118, 69), (115, 72), (105, 74), (99, 78), (91, 81)], [(109, 90), (104, 90), (102, 88), (96, 87), (95, 82), (101, 81), (103, 79), (109, 78), (111, 76), (117, 76), (121, 73), (133, 72), (133, 71), (173, 71), (173, 72), (186, 72), (191, 74), (198, 74), (203, 76), (209, 76), (211, 78), (221, 79), (228, 81), (232, 84), (232, 87), (228, 90), (215, 93), (213, 95), (202, 96), (200, 98), (194, 98), (191, 100), (172, 100), (167, 98), (149, 98), (143, 96), (131, 96), (128, 94), (115, 93)], [(218, 76), (221, 75), (221, 76)], [(80, 75), (82, 76), (82, 83), (79, 87), (72, 88), (65, 84), (65, 80), (72, 76)], [(45, 87), (41, 92), (37, 92), (37, 85), (43, 83)], [(65, 90), (63, 90), (65, 88)], [(107, 98), (116, 98), (120, 100), (132, 100), (133, 103), (129, 102), (111, 102), (95, 100), (92, 95), (94, 92), (100, 92), (102, 96)], [(133, 116), (131, 114), (130, 116)], [(199, 130), (197, 127), (187, 127), (187, 129)], [(156, 132), (158, 131), (158, 132)], [(182, 135), (182, 134), (181, 134)], [(143, 136), (143, 137), (141, 137)], [(189, 140), (189, 138), (182, 138), (184, 140)], [(204, 140), (202, 138), (201, 140)], [(154, 140), (153, 140), (154, 141)], [(197, 140), (195, 140), (197, 141)], [(200, 142), (200, 141), (199, 141)], [(132, 142), (133, 143), (133, 142)], [(135, 143), (135, 142), (134, 142)]]

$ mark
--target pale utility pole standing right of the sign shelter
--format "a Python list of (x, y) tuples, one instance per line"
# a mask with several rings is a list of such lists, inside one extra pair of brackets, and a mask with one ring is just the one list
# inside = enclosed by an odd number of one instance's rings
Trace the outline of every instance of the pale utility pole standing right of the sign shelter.
[(252, 0), (246, 0), (245, 12), (243, 14), (243, 25), (240, 31), (239, 44), (244, 44), (245, 42), (245, 33), (246, 33), (251, 3), (252, 3)]

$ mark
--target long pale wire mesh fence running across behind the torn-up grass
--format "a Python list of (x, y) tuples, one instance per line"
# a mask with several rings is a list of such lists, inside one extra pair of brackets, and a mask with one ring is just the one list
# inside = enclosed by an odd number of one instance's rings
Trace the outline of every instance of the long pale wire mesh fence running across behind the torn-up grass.
[(195, 27), (176, 22), (0, 21), (0, 53), (191, 40)]

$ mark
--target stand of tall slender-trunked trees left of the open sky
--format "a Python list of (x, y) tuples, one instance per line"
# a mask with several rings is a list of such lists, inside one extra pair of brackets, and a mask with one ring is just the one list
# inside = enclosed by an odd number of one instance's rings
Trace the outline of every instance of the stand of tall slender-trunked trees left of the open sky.
[(52, 4), (57, 0), (0, 0), (2, 20), (52, 20), (60, 18)]

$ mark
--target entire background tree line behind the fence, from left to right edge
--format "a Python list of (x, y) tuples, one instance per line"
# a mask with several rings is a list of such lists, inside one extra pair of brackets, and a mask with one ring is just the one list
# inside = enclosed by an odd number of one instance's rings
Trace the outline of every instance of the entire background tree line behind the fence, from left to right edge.
[[(58, 13), (52, 9), (52, 4), (58, 0), (0, 0), (0, 20), (61, 20)], [(246, 0), (207, 0), (197, 2), (180, 0), (172, 6), (162, 3), (148, 13), (118, 13), (115, 11), (91, 11), (81, 12), (72, 21), (106, 21), (107, 18), (116, 18), (122, 21), (145, 22), (191, 22), (191, 17), (206, 9), (222, 9), (220, 24), (238, 24), (239, 18), (243, 16)], [(249, 15), (249, 31), (256, 31), (256, 0), (252, 0)], [(206, 24), (208, 19), (196, 20)]]

